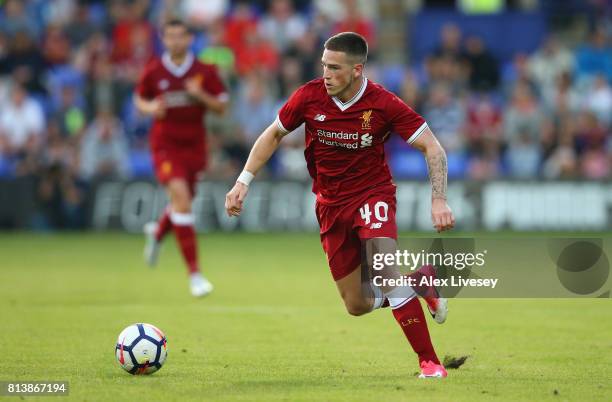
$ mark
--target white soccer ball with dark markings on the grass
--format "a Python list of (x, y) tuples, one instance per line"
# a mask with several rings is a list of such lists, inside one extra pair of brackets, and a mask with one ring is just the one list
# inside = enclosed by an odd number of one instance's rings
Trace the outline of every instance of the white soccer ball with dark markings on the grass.
[(151, 324), (132, 324), (119, 334), (115, 356), (130, 374), (151, 374), (161, 368), (168, 355), (166, 336)]

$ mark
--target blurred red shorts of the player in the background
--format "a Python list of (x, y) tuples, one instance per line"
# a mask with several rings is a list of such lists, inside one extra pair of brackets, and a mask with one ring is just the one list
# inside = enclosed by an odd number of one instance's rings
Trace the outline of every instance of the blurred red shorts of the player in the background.
[(193, 196), (198, 175), (206, 168), (206, 155), (199, 149), (156, 149), (153, 151), (153, 166), (161, 184), (165, 185), (171, 179), (184, 179)]

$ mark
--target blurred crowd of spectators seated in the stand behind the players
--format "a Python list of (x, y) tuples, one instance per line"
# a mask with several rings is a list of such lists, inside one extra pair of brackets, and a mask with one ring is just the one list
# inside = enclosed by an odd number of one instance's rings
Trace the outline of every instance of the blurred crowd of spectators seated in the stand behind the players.
[[(145, 63), (162, 51), (157, 28), (170, 17), (188, 21), (195, 54), (216, 64), (230, 88), (231, 112), (208, 118), (209, 177), (236, 176), (288, 95), (320, 74), (323, 41), (341, 31), (366, 37), (366, 74), (426, 118), (447, 150), (451, 178), (611, 177), (609, 19), (574, 46), (551, 33), (512, 60), (496, 59), (483, 38), (447, 25), (425, 60), (386, 65), (378, 57), (378, 5), (367, 0), (0, 6), (0, 178), (36, 177), (41, 205), (62, 210), (60, 221), (92, 181), (152, 177), (150, 121), (132, 94)], [(286, 137), (267, 174), (307, 177), (302, 152), (303, 135)], [(398, 136), (388, 160), (396, 178), (427, 175), (422, 156)]]

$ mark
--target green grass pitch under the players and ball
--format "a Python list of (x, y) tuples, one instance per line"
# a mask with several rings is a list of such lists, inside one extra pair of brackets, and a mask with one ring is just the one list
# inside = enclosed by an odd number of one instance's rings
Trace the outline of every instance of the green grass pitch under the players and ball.
[[(389, 310), (346, 314), (316, 234), (200, 236), (201, 300), (174, 240), (154, 270), (142, 240), (0, 234), (0, 380), (67, 380), (80, 401), (612, 400), (610, 299), (453, 299), (429, 327), (440, 356), (470, 357), (424, 381)], [(154, 375), (115, 362), (134, 322), (168, 337)]]

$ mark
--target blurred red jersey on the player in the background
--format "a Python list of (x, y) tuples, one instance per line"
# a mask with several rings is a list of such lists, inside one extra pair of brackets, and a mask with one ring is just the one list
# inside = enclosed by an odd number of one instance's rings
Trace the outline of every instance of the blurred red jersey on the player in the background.
[(166, 115), (155, 119), (151, 127), (151, 148), (193, 147), (202, 149), (205, 144), (204, 114), (206, 107), (194, 100), (185, 90), (185, 82), (198, 80), (209, 94), (227, 98), (225, 85), (215, 66), (201, 63), (189, 53), (182, 65), (177, 66), (169, 54), (151, 60), (136, 87), (145, 99), (162, 96), (166, 103)]

